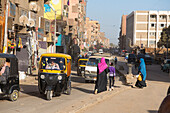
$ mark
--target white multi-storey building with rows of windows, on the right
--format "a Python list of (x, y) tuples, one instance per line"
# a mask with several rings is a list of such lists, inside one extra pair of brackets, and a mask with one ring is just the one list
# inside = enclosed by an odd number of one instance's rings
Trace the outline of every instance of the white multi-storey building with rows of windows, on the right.
[(133, 11), (126, 18), (126, 48), (155, 48), (164, 27), (170, 25), (170, 11)]

